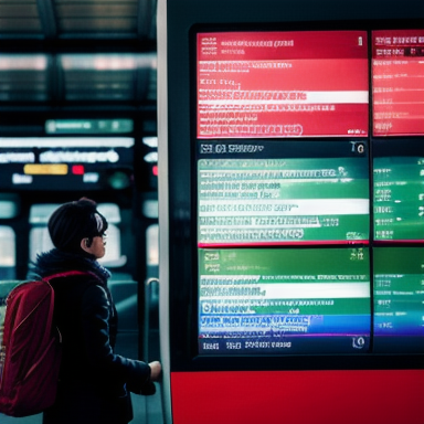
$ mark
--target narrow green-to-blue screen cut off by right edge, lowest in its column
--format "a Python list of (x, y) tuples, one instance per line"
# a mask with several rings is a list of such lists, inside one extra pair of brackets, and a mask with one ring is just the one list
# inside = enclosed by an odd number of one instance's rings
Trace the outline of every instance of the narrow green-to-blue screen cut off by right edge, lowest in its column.
[(377, 247), (374, 351), (424, 353), (424, 247)]

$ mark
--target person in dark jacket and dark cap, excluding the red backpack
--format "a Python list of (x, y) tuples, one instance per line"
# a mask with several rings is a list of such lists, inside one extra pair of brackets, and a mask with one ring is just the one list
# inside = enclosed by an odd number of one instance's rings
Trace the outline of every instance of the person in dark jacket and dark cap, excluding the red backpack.
[(54, 248), (38, 255), (32, 275), (66, 271), (86, 274), (54, 278), (54, 317), (62, 336), (57, 398), (43, 424), (127, 424), (129, 392), (153, 394), (159, 361), (146, 363), (114, 351), (117, 311), (107, 287), (110, 273), (97, 259), (106, 252), (106, 219), (86, 198), (62, 204), (49, 220)]

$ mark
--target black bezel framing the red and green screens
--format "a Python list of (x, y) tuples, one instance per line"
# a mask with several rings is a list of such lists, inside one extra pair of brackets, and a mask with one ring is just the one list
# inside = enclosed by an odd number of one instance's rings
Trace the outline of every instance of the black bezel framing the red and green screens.
[[(420, 20), (395, 21), (395, 20), (358, 20), (358, 21), (319, 21), (308, 22), (308, 31), (314, 30), (365, 30), (368, 31), (369, 42), (369, 56), (371, 52), (371, 31), (381, 29), (414, 29), (420, 28)], [(401, 23), (403, 23), (401, 25)], [(186, 150), (188, 156), (183, 156), (181, 152), (180, 159), (182, 166), (188, 167), (190, 178), (190, 195), (191, 200), (186, 205), (190, 210), (190, 216), (182, 219), (184, 230), (181, 229), (179, 236), (183, 239), (184, 246), (189, 250), (188, 257), (190, 264), (172, 263), (174, 266), (183, 266), (184, 275), (190, 276), (190, 280), (186, 280), (180, 285), (179, 294), (170, 292), (170, 315), (180, 316), (186, 330), (181, 333), (180, 325), (177, 325), (174, 320), (170, 320), (171, 326), (171, 360), (172, 368), (178, 371), (184, 370), (324, 370), (324, 369), (422, 369), (424, 368), (422, 354), (374, 354), (369, 353), (367, 356), (360, 354), (305, 354), (294, 357), (271, 357), (271, 356), (255, 356), (255, 357), (226, 357), (226, 356), (199, 356), (198, 354), (198, 268), (197, 268), (197, 46), (195, 35), (198, 32), (213, 32), (213, 31), (280, 31), (282, 23), (202, 23), (194, 24), (189, 29), (189, 50), (188, 60), (190, 62), (190, 148)], [(286, 31), (305, 31), (305, 22), (285, 22), (284, 30)], [(371, 62), (369, 64), (369, 75), (371, 77)], [(370, 81), (371, 87), (371, 81)], [(372, 93), (370, 93), (372, 96)], [(369, 121), (372, 119), (372, 97), (369, 100)], [(386, 139), (386, 137), (373, 137), (371, 132), (372, 125), (370, 124), (369, 136), (365, 139), (369, 140), (372, 146), (373, 140)], [(351, 140), (354, 140), (353, 138)], [(395, 139), (395, 137), (391, 137)], [(349, 138), (343, 138), (344, 141)], [(370, 160), (372, 155), (370, 155)], [(181, 163), (180, 163), (181, 166)], [(172, 165), (170, 165), (172, 168)], [(372, 193), (372, 176), (370, 180), (370, 193)], [(372, 211), (371, 211), (372, 213)], [(178, 221), (178, 220), (177, 220)], [(178, 227), (178, 222), (172, 223), (174, 230)], [(180, 220), (181, 221), (181, 220)], [(172, 230), (172, 229), (171, 229)], [(370, 234), (372, 234), (372, 219), (370, 219)], [(190, 239), (190, 241), (188, 241)], [(416, 246), (416, 245), (415, 245)], [(331, 248), (330, 246), (328, 248)], [(372, 255), (372, 252), (371, 252)], [(171, 258), (172, 259), (172, 258)], [(191, 265), (191, 266), (190, 266)], [(372, 269), (371, 269), (372, 275)], [(180, 290), (181, 288), (181, 290)], [(188, 304), (189, 303), (189, 304)]]

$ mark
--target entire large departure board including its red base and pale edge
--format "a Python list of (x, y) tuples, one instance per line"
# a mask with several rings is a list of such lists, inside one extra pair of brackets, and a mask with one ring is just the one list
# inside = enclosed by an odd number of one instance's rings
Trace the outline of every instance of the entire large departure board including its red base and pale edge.
[(158, 39), (173, 421), (423, 424), (424, 1), (182, 3)]

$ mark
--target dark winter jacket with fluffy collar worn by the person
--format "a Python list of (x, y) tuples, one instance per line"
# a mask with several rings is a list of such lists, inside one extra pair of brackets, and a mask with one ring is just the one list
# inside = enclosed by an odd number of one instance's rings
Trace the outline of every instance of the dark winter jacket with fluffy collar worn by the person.
[(51, 280), (63, 357), (57, 400), (45, 411), (43, 423), (128, 423), (128, 391), (155, 391), (150, 367), (115, 354), (117, 312), (107, 288), (110, 274), (95, 258), (53, 248), (38, 257), (33, 273), (44, 277), (71, 269), (88, 274)]

